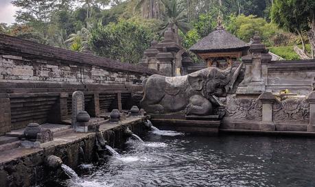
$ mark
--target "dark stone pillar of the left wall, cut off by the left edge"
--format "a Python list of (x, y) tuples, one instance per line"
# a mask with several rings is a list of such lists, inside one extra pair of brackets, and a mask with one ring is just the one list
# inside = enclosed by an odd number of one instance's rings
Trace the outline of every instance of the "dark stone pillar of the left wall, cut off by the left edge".
[(0, 95), (0, 136), (11, 131), (11, 105), (8, 95)]

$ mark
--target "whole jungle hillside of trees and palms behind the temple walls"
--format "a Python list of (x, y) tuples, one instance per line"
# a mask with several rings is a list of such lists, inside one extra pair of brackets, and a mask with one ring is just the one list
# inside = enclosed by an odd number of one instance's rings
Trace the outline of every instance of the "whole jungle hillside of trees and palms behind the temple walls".
[[(314, 0), (12, 0), (21, 10), (0, 33), (45, 45), (138, 63), (152, 40), (163, 40), (167, 25), (189, 49), (224, 27), (250, 42), (255, 31), (271, 51), (287, 60), (314, 58)], [(291, 50), (292, 47), (298, 49)], [(288, 50), (290, 48), (290, 50)], [(299, 54), (299, 55), (298, 55)]]

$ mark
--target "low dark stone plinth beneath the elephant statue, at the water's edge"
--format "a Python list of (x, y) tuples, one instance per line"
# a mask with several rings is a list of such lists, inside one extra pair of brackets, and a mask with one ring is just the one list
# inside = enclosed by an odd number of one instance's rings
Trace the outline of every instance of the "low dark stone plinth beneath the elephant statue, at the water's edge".
[(159, 129), (172, 129), (190, 134), (218, 134), (220, 121), (202, 121), (185, 119), (151, 119), (152, 124)]

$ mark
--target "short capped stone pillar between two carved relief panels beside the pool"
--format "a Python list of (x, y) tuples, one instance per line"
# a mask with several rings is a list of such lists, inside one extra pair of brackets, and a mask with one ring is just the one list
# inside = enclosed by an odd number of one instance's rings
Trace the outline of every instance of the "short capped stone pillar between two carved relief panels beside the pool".
[(261, 131), (275, 131), (275, 124), (272, 120), (272, 104), (275, 96), (271, 92), (264, 92), (259, 96), (262, 103), (262, 121), (259, 125)]

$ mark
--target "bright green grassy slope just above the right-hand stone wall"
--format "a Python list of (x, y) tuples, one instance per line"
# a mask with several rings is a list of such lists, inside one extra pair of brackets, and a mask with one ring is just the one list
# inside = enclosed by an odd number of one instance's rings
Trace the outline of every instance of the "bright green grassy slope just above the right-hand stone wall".
[[(299, 45), (301, 48), (302, 46)], [(306, 45), (307, 51), (311, 50), (310, 45)], [(285, 60), (299, 60), (299, 55), (293, 49), (293, 46), (281, 46), (281, 47), (270, 47), (270, 52), (275, 53), (276, 55), (281, 56)]]

